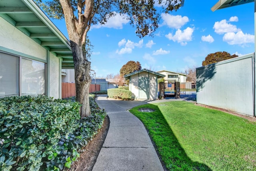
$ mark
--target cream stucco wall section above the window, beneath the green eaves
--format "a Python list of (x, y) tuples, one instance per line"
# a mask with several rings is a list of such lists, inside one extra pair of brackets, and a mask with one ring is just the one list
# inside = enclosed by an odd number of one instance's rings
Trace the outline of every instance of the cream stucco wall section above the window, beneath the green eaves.
[(47, 51), (20, 30), (0, 17), (0, 46), (46, 60)]

